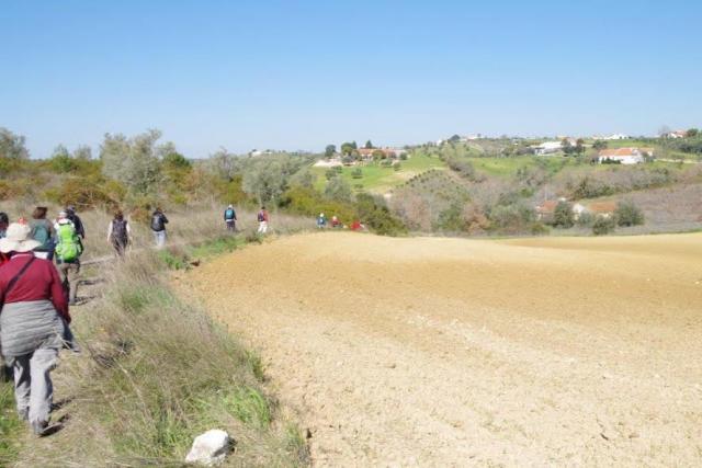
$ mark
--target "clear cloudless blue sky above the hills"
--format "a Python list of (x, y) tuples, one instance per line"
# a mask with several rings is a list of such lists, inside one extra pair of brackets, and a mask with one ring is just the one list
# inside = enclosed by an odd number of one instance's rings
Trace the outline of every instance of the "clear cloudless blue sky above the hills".
[(33, 157), (702, 126), (698, 1), (2, 3), (0, 126)]

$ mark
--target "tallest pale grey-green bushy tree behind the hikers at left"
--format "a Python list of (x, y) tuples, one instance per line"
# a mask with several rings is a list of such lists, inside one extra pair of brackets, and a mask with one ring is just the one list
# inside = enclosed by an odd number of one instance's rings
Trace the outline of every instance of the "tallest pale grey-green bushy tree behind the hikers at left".
[(123, 183), (136, 195), (155, 193), (161, 176), (159, 149), (161, 133), (150, 129), (127, 138), (122, 134), (105, 134), (100, 159), (105, 176)]

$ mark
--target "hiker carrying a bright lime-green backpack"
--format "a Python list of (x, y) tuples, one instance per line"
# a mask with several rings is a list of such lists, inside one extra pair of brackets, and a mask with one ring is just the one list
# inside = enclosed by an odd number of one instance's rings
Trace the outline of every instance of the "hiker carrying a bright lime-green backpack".
[(73, 306), (78, 296), (80, 255), (83, 253), (83, 244), (66, 212), (58, 214), (56, 226), (56, 266), (61, 275), (68, 304)]

